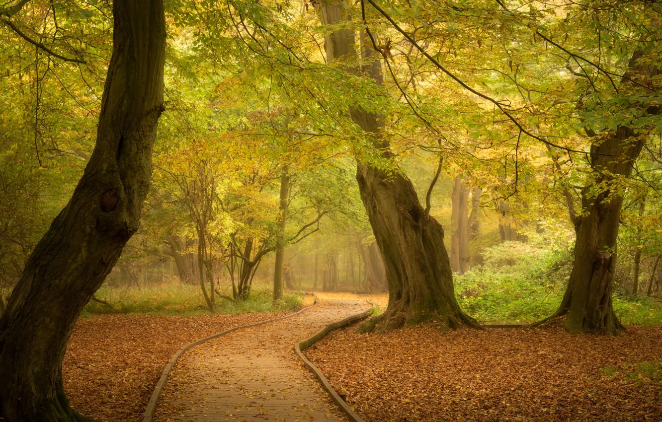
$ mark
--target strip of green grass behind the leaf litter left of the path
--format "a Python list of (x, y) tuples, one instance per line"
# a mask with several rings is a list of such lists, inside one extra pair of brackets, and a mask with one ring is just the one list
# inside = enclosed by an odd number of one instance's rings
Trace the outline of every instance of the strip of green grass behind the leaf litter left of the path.
[[(232, 296), (231, 292), (225, 292)], [(283, 300), (271, 300), (268, 288), (257, 288), (244, 302), (230, 302), (216, 296), (216, 312), (219, 314), (244, 314), (255, 312), (281, 312), (301, 308), (303, 294), (286, 293)], [(209, 314), (199, 286), (171, 283), (149, 288), (110, 288), (102, 286), (96, 297), (111, 306), (90, 301), (81, 317), (92, 314), (143, 314), (143, 315), (200, 315)]]

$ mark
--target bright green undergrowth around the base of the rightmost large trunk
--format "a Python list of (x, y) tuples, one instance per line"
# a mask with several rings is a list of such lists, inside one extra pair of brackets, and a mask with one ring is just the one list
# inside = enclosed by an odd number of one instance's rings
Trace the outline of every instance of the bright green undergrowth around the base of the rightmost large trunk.
[[(573, 239), (563, 233), (529, 237), (487, 247), (483, 265), (455, 274), (455, 292), (467, 314), (481, 323), (532, 323), (557, 310), (572, 269)], [(653, 298), (614, 294), (613, 303), (622, 323), (662, 323)]]

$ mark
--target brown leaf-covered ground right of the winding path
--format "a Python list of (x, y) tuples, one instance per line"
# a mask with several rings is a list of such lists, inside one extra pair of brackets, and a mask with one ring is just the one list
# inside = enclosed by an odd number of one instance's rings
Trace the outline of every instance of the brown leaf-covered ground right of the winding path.
[(355, 329), (306, 354), (367, 422), (662, 421), (662, 377), (632, 375), (662, 361), (660, 326), (616, 337), (554, 327)]

